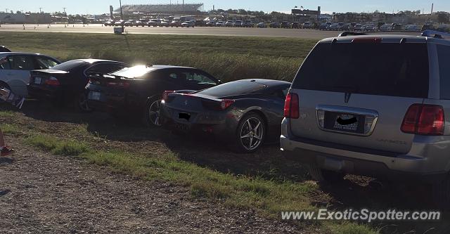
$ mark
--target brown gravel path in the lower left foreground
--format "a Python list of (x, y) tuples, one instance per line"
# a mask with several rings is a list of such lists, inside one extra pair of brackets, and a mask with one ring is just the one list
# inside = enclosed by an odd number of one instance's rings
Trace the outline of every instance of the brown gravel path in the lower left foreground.
[(183, 187), (23, 145), (14, 160), (0, 159), (0, 207), (0, 233), (302, 233), (253, 211), (193, 200)]

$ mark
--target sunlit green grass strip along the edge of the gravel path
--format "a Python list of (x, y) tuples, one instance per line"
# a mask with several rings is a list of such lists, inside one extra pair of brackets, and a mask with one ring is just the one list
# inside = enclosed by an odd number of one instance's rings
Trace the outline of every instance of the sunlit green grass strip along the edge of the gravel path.
[[(165, 155), (131, 155), (120, 151), (92, 150), (89, 144), (61, 140), (54, 136), (32, 135), (26, 143), (55, 155), (80, 157), (91, 164), (110, 167), (113, 171), (149, 181), (168, 181), (191, 188), (193, 197), (220, 200), (228, 207), (257, 209), (266, 216), (279, 219), (283, 211), (316, 211), (309, 196), (318, 189), (314, 183), (270, 181), (248, 176), (236, 177), (179, 160), (169, 152)], [(154, 156), (154, 157), (152, 157)], [(305, 228), (316, 226), (326, 233), (376, 233), (356, 223), (299, 223)]]

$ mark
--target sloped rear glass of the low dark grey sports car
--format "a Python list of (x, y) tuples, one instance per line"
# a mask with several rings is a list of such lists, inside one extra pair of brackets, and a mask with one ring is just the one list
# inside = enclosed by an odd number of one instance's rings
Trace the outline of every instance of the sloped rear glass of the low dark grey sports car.
[(237, 81), (205, 89), (204, 91), (198, 92), (198, 94), (214, 97), (236, 96), (246, 93), (255, 93), (262, 89), (266, 89), (266, 87), (266, 85), (257, 82)]

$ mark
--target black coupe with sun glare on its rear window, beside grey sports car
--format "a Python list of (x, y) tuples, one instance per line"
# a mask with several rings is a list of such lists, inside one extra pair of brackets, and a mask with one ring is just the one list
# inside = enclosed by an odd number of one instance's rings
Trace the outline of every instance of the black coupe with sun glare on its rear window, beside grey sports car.
[(89, 107), (113, 116), (138, 115), (148, 126), (160, 126), (160, 103), (166, 90), (203, 90), (220, 83), (191, 67), (145, 65), (112, 74), (91, 75), (87, 84)]

